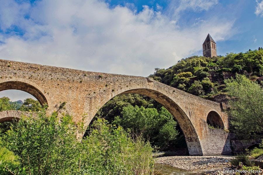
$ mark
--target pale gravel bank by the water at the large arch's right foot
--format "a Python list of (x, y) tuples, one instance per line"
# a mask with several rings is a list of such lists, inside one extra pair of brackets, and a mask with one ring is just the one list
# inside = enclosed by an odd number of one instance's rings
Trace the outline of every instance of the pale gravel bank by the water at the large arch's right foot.
[(155, 158), (155, 163), (167, 164), (184, 170), (229, 167), (231, 156), (167, 156)]

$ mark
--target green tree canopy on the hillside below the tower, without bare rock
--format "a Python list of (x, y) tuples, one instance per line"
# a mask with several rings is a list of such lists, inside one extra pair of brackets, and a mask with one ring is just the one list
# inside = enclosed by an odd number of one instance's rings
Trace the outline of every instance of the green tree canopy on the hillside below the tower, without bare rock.
[[(213, 71), (212, 74), (211, 71)], [(181, 59), (177, 64), (169, 69), (156, 68), (154, 74), (150, 75), (150, 77), (153, 77), (156, 81), (170, 85), (174, 88), (179, 88), (186, 92), (193, 93), (194, 95), (202, 95), (202, 97), (205, 97), (203, 95), (208, 95), (212, 92), (209, 90), (210, 87), (208, 89), (205, 89), (204, 87), (204, 94), (198, 93), (196, 90), (192, 90), (194, 86), (189, 90), (194, 83), (194, 81), (191, 81), (193, 75), (196, 76), (193, 79), (195, 81), (202, 82), (204, 78), (209, 76), (212, 83), (222, 84), (224, 83), (222, 72), (243, 73), (243, 71), (253, 73), (255, 76), (262, 76), (262, 49), (250, 50), (248, 52), (238, 54), (229, 53), (224, 57), (209, 58), (203, 56), (192, 56)], [(213, 93), (217, 92), (213, 91)]]

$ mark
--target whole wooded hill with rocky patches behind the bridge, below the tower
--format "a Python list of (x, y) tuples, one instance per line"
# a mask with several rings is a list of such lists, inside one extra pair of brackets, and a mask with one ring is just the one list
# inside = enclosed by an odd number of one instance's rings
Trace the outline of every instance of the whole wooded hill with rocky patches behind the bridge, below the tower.
[(168, 69), (155, 68), (149, 77), (193, 95), (221, 102), (226, 101), (224, 79), (234, 77), (236, 73), (255, 80), (262, 76), (262, 48), (220, 57), (184, 58)]

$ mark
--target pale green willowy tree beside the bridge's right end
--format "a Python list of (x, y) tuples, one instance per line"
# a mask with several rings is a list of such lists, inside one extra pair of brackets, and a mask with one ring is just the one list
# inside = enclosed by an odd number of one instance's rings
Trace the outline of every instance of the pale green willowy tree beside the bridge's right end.
[(244, 75), (226, 80), (226, 91), (232, 98), (231, 125), (241, 138), (260, 135), (263, 132), (263, 89)]

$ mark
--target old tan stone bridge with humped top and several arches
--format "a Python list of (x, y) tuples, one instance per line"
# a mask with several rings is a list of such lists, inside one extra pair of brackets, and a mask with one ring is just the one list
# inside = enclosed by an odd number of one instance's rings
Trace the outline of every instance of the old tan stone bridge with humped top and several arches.
[[(190, 155), (231, 153), (229, 134), (224, 130), (229, 127), (224, 104), (191, 95), (151, 78), (8, 60), (0, 60), (0, 66), (0, 91), (28, 92), (41, 104), (47, 103), (49, 113), (57, 111), (65, 101), (65, 112), (76, 122), (84, 113), (88, 115), (86, 127), (111, 98), (137, 93), (155, 99), (174, 116), (184, 133)], [(216, 124), (220, 129), (210, 129), (207, 123)]]

